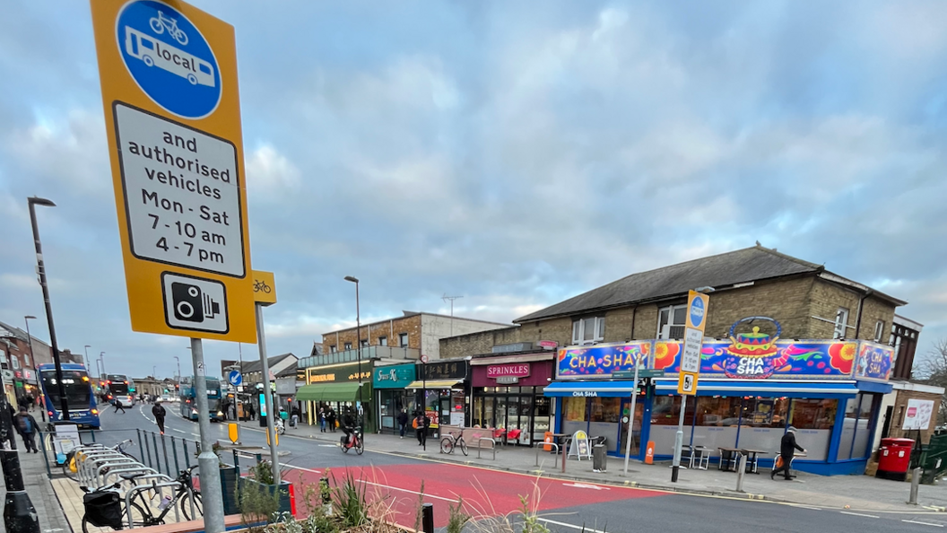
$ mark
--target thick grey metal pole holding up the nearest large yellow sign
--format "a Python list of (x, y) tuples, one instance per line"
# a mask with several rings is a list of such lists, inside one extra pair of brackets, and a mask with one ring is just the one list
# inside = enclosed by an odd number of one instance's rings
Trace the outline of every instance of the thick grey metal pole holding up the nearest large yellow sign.
[(223, 533), (226, 527), (223, 524), (220, 459), (214, 453), (214, 443), (210, 439), (210, 413), (207, 411), (204, 344), (200, 339), (190, 340), (190, 355), (194, 360), (194, 395), (197, 396), (194, 399), (197, 403), (197, 424), (201, 429), (201, 454), (197, 456), (197, 464), (201, 469), (205, 531), (207, 533)]

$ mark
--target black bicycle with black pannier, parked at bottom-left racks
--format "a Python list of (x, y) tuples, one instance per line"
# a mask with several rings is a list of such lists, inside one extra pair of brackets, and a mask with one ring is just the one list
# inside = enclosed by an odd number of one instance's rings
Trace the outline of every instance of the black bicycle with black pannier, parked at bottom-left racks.
[[(196, 520), (198, 517), (204, 516), (204, 504), (201, 501), (201, 493), (194, 489), (191, 478), (191, 471), (196, 468), (197, 466), (194, 466), (186, 470), (181, 470), (181, 474), (178, 475), (175, 480), (180, 486), (174, 491), (170, 500), (162, 501), (161, 505), (158, 505), (158, 508), (161, 509), (161, 514), (157, 516), (152, 513), (151, 505), (148, 505), (148, 501), (145, 499), (145, 492), (147, 490), (135, 492), (128, 504), (132, 507), (132, 527), (165, 524), (165, 517), (168, 516), (168, 513), (170, 513), (171, 509), (176, 505), (181, 505), (181, 513), (184, 515), (185, 520)], [(119, 475), (122, 479), (134, 483), (135, 479), (145, 475), (145, 473), (136, 472)], [(155, 482), (152, 482), (152, 486), (153, 485), (155, 485)], [(129, 509), (127, 507), (122, 508), (123, 498), (118, 492), (120, 487), (120, 483), (106, 487), (98, 487), (96, 489), (80, 487), (82, 491), (85, 492), (85, 495), (82, 497), (82, 504), (85, 507), (85, 514), (82, 516), (82, 533), (90, 533), (89, 525), (93, 527), (111, 527), (116, 530), (124, 529), (128, 525), (128, 521), (125, 517)], [(157, 488), (154, 487), (151, 491), (152, 494), (154, 494)], [(190, 508), (192, 503), (194, 505), (193, 512), (191, 512)]]

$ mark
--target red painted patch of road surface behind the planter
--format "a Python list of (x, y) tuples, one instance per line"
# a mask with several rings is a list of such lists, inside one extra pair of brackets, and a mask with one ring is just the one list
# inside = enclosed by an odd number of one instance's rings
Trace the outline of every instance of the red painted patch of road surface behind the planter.
[[(319, 476), (302, 470), (296, 472), (286, 476), (286, 479), (299, 484), (301, 476), (303, 486), (296, 491), (297, 497), (300, 497), (304, 486), (317, 483)], [(422, 480), (424, 501), (434, 504), (437, 527), (447, 524), (448, 505), (459, 497), (463, 497), (468, 514), (474, 517), (496, 517), (521, 509), (520, 496), (527, 497), (530, 507), (549, 511), (667, 495), (652, 490), (538, 479), (509, 472), (435, 463), (331, 469), (334, 483), (341, 485), (349, 472), (365, 487), (370, 499), (384, 502), (384, 507), (395, 522), (409, 527), (414, 525), (417, 493)], [(299, 512), (300, 516), (306, 514), (305, 509)]]

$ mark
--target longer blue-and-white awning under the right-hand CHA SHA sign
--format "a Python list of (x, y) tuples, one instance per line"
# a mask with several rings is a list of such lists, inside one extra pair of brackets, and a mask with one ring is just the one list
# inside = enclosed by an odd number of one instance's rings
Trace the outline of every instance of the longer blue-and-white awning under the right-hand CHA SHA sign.
[[(677, 392), (677, 379), (658, 379), (655, 390), (659, 395)], [(699, 396), (761, 396), (791, 398), (849, 398), (858, 394), (854, 381), (772, 381), (738, 380), (713, 381), (701, 379), (697, 385)]]

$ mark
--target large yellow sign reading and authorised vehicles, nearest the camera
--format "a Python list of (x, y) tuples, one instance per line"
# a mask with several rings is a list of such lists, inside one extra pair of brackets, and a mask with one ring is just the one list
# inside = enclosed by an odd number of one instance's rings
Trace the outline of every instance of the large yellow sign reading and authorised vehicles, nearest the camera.
[(91, 5), (132, 329), (256, 342), (234, 28)]

